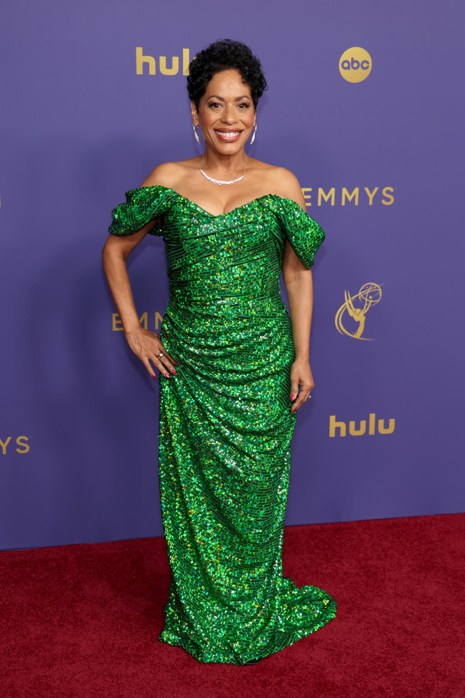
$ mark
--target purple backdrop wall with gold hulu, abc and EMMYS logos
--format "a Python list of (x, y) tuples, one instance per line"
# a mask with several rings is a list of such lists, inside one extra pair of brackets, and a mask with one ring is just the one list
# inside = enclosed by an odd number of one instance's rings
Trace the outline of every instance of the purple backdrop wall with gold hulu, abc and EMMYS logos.
[[(1, 10), (1, 549), (163, 533), (158, 382), (125, 341), (100, 253), (125, 191), (201, 152), (183, 73), (218, 38), (250, 45), (268, 80), (249, 153), (296, 174), (326, 231), (287, 524), (464, 510), (463, 10)], [(162, 239), (128, 271), (157, 331)]]

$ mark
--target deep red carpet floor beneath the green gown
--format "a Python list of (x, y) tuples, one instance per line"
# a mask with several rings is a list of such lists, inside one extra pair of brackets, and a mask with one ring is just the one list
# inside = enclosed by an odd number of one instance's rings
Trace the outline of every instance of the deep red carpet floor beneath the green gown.
[(158, 641), (162, 538), (0, 553), (3, 698), (464, 698), (465, 514), (293, 526), (284, 576), (337, 617), (256, 666)]

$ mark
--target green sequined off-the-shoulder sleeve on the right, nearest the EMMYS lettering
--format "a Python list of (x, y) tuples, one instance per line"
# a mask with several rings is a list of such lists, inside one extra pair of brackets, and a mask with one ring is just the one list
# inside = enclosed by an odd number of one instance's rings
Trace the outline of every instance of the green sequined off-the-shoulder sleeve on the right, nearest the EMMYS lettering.
[(300, 261), (310, 269), (314, 264), (314, 255), (326, 237), (323, 228), (295, 201), (280, 197), (275, 197), (275, 200), (279, 203), (276, 213), (287, 239)]

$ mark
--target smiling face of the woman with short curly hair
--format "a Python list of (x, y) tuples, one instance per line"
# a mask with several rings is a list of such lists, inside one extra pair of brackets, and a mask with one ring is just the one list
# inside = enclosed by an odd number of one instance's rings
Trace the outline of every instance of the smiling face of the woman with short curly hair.
[(250, 87), (238, 70), (213, 75), (199, 101), (192, 102), (192, 121), (199, 126), (207, 145), (221, 154), (240, 151), (255, 125), (256, 112)]

